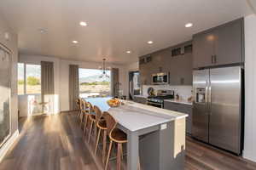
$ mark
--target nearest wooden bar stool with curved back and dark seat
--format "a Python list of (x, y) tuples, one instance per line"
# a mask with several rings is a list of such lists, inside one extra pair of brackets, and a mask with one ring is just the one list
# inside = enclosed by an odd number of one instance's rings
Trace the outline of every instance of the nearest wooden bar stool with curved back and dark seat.
[(117, 168), (116, 169), (120, 170), (121, 169), (121, 157), (123, 155), (122, 144), (127, 143), (127, 136), (126, 136), (126, 133), (124, 133), (123, 131), (121, 131), (119, 128), (116, 127), (117, 126), (116, 120), (107, 111), (105, 111), (102, 116), (107, 122), (108, 137), (110, 139), (108, 156), (107, 156), (107, 161), (105, 164), (105, 170), (108, 169), (109, 156), (111, 154), (113, 142), (118, 144)]

